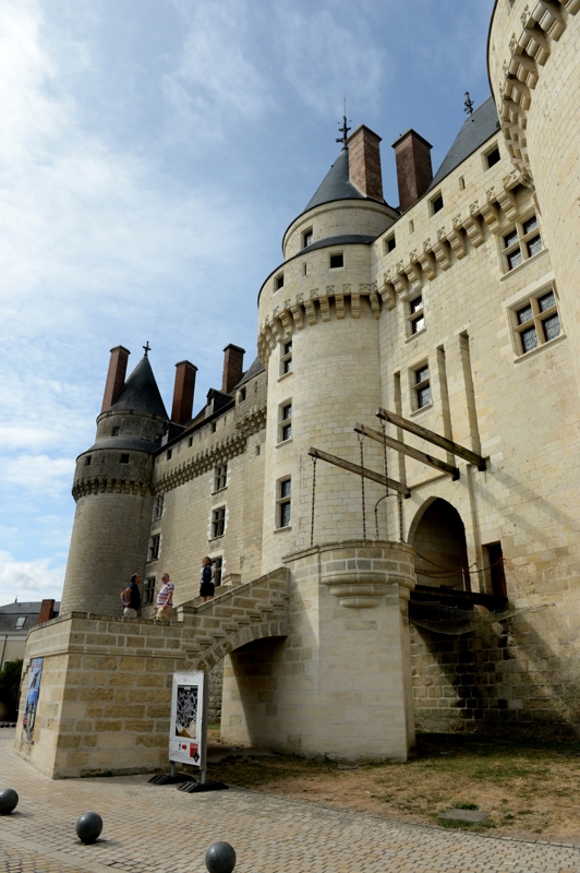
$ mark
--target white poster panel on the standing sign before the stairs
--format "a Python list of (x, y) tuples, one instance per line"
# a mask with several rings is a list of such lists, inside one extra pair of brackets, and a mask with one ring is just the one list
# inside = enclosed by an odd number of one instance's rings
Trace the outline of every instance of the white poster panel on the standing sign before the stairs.
[(173, 673), (169, 760), (202, 766), (204, 673)]

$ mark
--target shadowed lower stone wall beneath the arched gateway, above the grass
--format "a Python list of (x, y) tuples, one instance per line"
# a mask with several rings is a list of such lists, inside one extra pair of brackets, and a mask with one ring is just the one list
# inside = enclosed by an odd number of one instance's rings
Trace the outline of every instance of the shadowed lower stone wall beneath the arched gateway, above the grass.
[(578, 666), (552, 618), (530, 611), (460, 636), (411, 625), (416, 729), (578, 738)]

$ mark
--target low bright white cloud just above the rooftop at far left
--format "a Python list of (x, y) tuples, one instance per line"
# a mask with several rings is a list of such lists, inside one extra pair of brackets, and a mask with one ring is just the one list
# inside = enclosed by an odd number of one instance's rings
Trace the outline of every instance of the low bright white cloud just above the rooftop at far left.
[(64, 567), (50, 567), (50, 559), (16, 561), (10, 552), (0, 551), (0, 603), (43, 600), (60, 600)]

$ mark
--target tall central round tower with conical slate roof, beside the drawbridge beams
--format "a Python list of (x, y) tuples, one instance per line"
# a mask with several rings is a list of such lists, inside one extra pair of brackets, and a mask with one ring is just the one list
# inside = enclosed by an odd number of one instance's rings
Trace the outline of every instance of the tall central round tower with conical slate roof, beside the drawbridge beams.
[[(310, 447), (360, 464), (353, 426), (372, 422), (380, 406), (382, 301), (371, 242), (398, 214), (383, 198), (379, 142), (364, 125), (348, 140), (345, 132), (330, 171), (285, 234), (283, 262), (259, 292), (258, 351), (268, 370), (263, 572), (310, 546)], [(365, 446), (365, 466), (379, 452)], [(365, 490), (370, 526), (380, 486), (366, 480)], [(362, 533), (360, 478), (318, 461), (314, 542)]]

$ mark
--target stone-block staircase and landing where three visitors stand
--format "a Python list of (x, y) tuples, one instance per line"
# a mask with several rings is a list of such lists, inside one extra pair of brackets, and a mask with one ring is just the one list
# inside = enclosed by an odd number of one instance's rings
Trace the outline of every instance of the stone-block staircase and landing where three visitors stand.
[[(217, 673), (228, 651), (252, 639), (285, 635), (285, 570), (189, 603), (178, 620), (123, 621), (72, 613), (31, 631), (22, 681), (16, 749), (52, 778), (142, 773), (168, 764), (172, 674)], [(44, 658), (34, 742), (22, 737), (31, 660)]]

